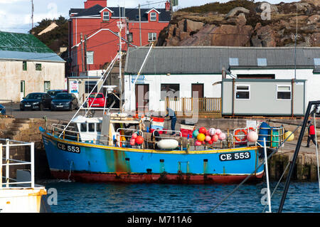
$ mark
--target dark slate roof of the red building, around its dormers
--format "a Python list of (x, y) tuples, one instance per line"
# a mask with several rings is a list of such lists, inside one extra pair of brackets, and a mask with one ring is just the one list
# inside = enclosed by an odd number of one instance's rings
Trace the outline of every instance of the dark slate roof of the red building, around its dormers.
[[(139, 9), (129, 9), (124, 7), (107, 7), (112, 13), (112, 17), (119, 17), (119, 13), (124, 15), (129, 19), (129, 21), (139, 21)], [(100, 11), (104, 9), (104, 7), (100, 5), (95, 5), (90, 7), (89, 9), (70, 9), (69, 15), (72, 13), (76, 13), (73, 17), (80, 17), (80, 16), (97, 16), (100, 15)], [(147, 11), (150, 9), (141, 9), (141, 21), (148, 21), (148, 15), (146, 14)], [(159, 21), (170, 21), (170, 12), (166, 11), (166, 9), (156, 9), (160, 12), (159, 14)]]

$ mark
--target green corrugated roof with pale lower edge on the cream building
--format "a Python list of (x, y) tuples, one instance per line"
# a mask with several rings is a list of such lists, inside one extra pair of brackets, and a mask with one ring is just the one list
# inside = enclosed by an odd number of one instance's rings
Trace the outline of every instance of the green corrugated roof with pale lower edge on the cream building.
[(65, 62), (35, 36), (0, 31), (0, 58)]

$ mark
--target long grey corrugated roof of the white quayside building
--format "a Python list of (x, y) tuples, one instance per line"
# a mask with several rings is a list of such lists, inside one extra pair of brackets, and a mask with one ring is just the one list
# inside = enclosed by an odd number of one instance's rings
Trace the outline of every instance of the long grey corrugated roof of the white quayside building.
[[(124, 72), (137, 74), (149, 47), (129, 48)], [(159, 73), (221, 73), (223, 67), (294, 68), (294, 48), (255, 48), (225, 46), (154, 47), (142, 70)], [(239, 65), (230, 66), (229, 58), (238, 58)], [(258, 66), (257, 58), (267, 58), (267, 66)], [(320, 48), (297, 48), (297, 68), (314, 68)]]

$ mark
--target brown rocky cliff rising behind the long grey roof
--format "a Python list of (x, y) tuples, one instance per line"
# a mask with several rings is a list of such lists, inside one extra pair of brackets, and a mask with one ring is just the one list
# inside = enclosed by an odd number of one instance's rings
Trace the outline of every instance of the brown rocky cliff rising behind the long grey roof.
[(320, 46), (320, 1), (236, 0), (174, 12), (157, 46)]

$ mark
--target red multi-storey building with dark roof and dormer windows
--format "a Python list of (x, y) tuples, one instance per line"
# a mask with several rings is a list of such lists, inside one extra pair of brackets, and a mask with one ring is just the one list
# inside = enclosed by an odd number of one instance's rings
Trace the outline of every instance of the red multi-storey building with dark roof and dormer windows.
[(145, 46), (156, 41), (170, 21), (169, 2), (164, 6), (164, 9), (140, 9), (139, 12), (138, 7), (107, 7), (106, 0), (87, 0), (84, 9), (70, 9), (70, 74), (78, 76), (85, 75), (86, 71), (99, 72), (105, 63), (111, 62), (119, 51), (117, 23), (120, 19), (124, 22), (122, 51), (127, 51), (128, 46)]

